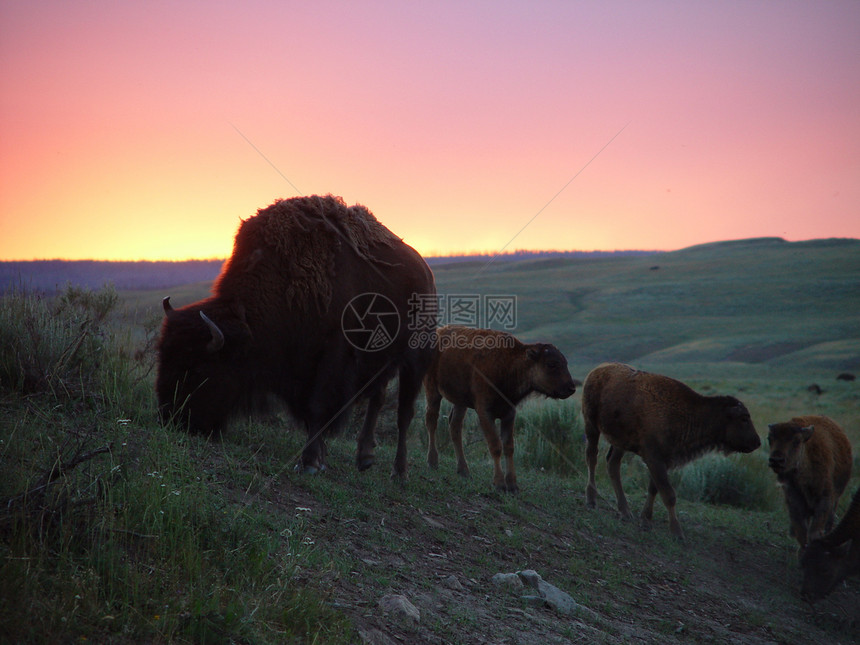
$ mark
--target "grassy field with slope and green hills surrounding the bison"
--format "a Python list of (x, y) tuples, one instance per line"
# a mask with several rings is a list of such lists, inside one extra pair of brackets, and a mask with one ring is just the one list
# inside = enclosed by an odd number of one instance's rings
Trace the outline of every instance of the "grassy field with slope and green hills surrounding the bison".
[[(768, 423), (826, 414), (860, 452), (860, 386), (836, 380), (860, 373), (857, 241), (434, 272), (449, 304), (515, 296), (514, 333), (557, 344), (580, 380), (600, 362), (629, 362), (738, 396), (762, 435)], [(293, 472), (303, 433), (284, 416), (237, 422), (221, 441), (160, 427), (160, 299), (181, 306), (208, 287), (3, 299), (0, 641), (856, 642), (857, 580), (815, 607), (799, 599), (766, 449), (673, 474), (679, 544), (659, 503), (650, 532), (619, 520), (602, 460), (598, 509), (585, 508), (579, 393), (524, 403), (516, 496), (492, 489), (472, 413), (471, 479), (455, 473), (444, 422), (439, 470), (426, 466), (423, 399), (405, 484), (388, 477), (390, 408), (374, 469), (352, 465), (359, 406), (318, 477)], [(644, 467), (633, 457), (622, 474), (640, 507)], [(855, 456), (848, 492), (858, 486)], [(561, 617), (490, 583), (529, 568), (591, 611)], [(389, 593), (409, 597), (420, 623), (385, 616)]]

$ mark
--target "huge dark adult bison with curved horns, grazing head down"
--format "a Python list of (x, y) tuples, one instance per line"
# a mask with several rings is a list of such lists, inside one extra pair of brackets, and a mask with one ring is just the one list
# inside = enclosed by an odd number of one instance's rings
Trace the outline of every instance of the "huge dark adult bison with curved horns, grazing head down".
[[(306, 428), (300, 465), (325, 467), (325, 435), (367, 398), (356, 462), (374, 462), (385, 387), (399, 376), (397, 456), (432, 346), (409, 336), (435, 329), (433, 274), (421, 256), (363, 206), (331, 195), (278, 200), (242, 222), (213, 295), (181, 309), (164, 300), (156, 390), (161, 419), (220, 430), (274, 395)], [(410, 307), (412, 310), (410, 310)], [(414, 344), (414, 343), (413, 343)]]

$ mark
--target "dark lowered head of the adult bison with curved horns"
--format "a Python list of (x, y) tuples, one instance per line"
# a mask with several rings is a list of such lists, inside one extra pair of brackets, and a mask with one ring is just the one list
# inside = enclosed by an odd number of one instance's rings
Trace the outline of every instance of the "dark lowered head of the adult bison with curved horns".
[(173, 309), (165, 298), (163, 306), (155, 382), (161, 421), (219, 431), (244, 407), (240, 372), (251, 336), (242, 310), (215, 300)]

